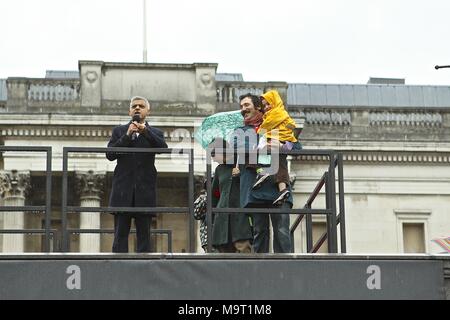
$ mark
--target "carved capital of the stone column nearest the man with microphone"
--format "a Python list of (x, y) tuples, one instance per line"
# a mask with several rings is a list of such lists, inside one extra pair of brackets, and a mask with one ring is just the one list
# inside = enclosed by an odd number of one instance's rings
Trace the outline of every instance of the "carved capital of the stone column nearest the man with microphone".
[(105, 172), (77, 171), (75, 172), (76, 190), (80, 199), (95, 198), (99, 200), (103, 194)]

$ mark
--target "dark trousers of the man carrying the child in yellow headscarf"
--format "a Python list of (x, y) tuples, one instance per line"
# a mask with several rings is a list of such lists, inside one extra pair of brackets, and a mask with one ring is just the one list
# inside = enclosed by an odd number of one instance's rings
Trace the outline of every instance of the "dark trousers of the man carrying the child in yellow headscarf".
[[(271, 208), (272, 203), (267, 205), (253, 205), (253, 208)], [(283, 203), (283, 209), (290, 208), (290, 205)], [(254, 238), (253, 250), (256, 253), (268, 253), (270, 241), (269, 218), (273, 228), (273, 252), (291, 253), (291, 233), (289, 230), (288, 214), (254, 214)]]

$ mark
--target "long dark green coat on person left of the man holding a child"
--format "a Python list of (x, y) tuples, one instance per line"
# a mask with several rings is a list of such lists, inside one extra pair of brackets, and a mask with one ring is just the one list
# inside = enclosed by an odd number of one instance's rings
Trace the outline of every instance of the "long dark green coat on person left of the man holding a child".
[[(233, 178), (233, 165), (220, 164), (214, 173), (212, 190), (219, 194), (212, 197), (217, 208), (236, 208), (239, 211), (239, 177)], [(219, 195), (219, 197), (217, 197)], [(250, 216), (245, 213), (217, 213), (214, 215), (212, 245), (226, 245), (238, 240), (252, 239)]]

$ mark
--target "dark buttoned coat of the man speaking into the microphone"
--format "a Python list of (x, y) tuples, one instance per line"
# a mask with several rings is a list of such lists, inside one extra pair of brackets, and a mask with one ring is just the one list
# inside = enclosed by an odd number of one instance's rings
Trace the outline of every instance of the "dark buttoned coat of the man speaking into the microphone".
[[(140, 134), (135, 140), (127, 135), (128, 126), (115, 127), (109, 140), (108, 147), (130, 148), (167, 148), (161, 130), (152, 128), (145, 123), (145, 134)], [(112, 182), (110, 207), (156, 206), (156, 168), (153, 153), (106, 153), (106, 158), (117, 159)]]

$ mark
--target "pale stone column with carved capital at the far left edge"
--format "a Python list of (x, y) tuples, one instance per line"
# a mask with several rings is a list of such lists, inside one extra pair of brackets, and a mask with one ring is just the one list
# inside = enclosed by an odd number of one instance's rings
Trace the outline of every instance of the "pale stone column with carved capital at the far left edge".
[[(29, 171), (1, 171), (0, 195), (4, 206), (24, 206), (25, 196), (30, 189)], [(13, 211), (3, 213), (2, 229), (19, 229), (25, 227), (24, 212)], [(23, 234), (4, 234), (2, 252), (24, 252)]]

